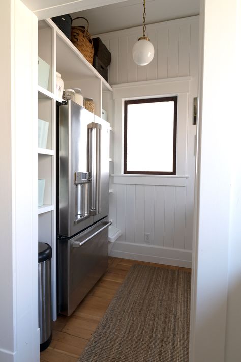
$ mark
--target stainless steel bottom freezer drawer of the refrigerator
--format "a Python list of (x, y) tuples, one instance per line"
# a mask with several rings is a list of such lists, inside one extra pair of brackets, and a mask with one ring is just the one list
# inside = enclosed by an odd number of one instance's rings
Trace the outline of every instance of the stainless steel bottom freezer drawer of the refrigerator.
[(59, 313), (70, 315), (108, 266), (108, 226), (104, 218), (71, 239), (58, 239)]

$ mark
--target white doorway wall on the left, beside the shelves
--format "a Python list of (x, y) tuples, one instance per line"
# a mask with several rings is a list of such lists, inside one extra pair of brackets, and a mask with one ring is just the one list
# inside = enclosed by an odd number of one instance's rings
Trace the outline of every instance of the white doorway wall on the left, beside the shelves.
[(0, 14), (0, 360), (39, 360), (37, 18), (19, 1)]

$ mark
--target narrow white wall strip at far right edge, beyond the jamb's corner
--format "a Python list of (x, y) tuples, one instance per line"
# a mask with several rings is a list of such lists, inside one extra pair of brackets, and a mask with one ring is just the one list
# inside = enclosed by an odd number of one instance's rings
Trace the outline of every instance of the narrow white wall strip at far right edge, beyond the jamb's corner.
[[(236, 14), (235, 14), (236, 12)], [(233, 7), (232, 31), (236, 33), (236, 49), (233, 51), (232, 85), (234, 104), (238, 104), (241, 81), (241, 1)], [(236, 15), (236, 23), (235, 23)], [(233, 35), (234, 38), (234, 35)], [(236, 88), (235, 88), (236, 87)], [(231, 104), (230, 104), (231, 105)], [(228, 255), (228, 309), (226, 326), (225, 361), (239, 362), (241, 356), (241, 167), (240, 167), (240, 117), (236, 117), (236, 109), (232, 108), (232, 161), (231, 161), (231, 200), (230, 200), (230, 228), (229, 228), (229, 255)]]

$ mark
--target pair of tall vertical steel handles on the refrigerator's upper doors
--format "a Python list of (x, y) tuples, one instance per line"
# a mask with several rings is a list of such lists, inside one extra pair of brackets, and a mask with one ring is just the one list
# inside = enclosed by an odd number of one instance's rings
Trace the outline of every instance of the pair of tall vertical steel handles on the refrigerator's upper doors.
[(88, 124), (88, 157), (89, 170), (92, 174), (91, 184), (91, 216), (98, 215), (101, 205), (101, 124)]

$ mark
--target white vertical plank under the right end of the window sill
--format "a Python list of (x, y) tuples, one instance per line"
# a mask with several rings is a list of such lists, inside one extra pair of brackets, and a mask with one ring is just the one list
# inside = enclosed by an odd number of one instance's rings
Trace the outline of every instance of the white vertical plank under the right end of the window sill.
[(175, 189), (174, 248), (185, 248), (186, 187)]

